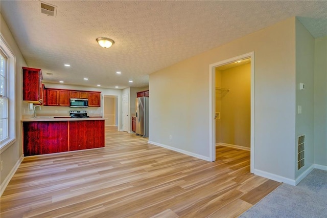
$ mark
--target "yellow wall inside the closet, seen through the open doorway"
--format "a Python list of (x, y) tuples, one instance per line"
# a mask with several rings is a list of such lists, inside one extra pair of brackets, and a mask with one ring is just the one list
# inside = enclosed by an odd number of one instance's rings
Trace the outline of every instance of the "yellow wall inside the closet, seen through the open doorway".
[[(230, 91), (216, 91), (216, 101), (220, 102), (220, 134), (216, 143), (226, 143), (250, 147), (251, 122), (251, 64), (230, 68), (219, 72), (220, 85)], [(216, 74), (217, 77), (217, 74)], [(216, 79), (217, 80), (217, 79)], [(217, 105), (217, 104), (216, 104)], [(217, 110), (216, 110), (217, 111)], [(216, 121), (216, 123), (217, 123)]]

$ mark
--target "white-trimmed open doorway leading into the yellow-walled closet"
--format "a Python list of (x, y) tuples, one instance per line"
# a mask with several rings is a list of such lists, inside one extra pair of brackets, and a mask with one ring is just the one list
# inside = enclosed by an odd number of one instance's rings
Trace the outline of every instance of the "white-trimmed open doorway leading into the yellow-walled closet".
[(253, 172), (254, 52), (211, 64), (209, 69), (210, 159), (216, 160), (216, 145), (250, 150)]

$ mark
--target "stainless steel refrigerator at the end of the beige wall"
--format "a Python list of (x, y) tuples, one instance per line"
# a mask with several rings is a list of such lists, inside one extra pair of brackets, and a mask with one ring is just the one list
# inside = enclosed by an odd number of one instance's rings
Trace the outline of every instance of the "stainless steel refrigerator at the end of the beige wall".
[(136, 98), (135, 133), (149, 137), (149, 98)]

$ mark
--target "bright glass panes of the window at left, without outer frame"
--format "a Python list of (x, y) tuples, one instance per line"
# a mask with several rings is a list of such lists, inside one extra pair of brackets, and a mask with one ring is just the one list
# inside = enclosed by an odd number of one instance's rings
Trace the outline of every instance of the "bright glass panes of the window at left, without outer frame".
[(0, 50), (0, 140), (8, 139), (8, 57)]

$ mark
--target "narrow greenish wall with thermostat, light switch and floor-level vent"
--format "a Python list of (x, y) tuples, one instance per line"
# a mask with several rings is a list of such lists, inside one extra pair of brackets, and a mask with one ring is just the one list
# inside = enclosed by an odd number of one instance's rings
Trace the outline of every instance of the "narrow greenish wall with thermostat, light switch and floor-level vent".
[[(314, 164), (314, 43), (313, 36), (296, 19), (295, 178)], [(299, 90), (299, 83), (305, 83), (305, 90)], [(305, 135), (305, 166), (298, 170), (297, 137), (300, 135)]]

